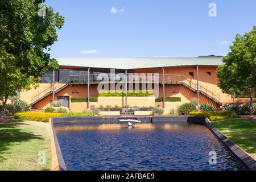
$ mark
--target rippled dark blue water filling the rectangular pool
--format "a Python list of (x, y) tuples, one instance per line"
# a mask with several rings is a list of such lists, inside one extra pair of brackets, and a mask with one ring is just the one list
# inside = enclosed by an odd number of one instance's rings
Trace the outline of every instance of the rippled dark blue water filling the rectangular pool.
[[(80, 123), (55, 130), (68, 170), (243, 170), (202, 125)], [(209, 164), (209, 151), (217, 164)]]

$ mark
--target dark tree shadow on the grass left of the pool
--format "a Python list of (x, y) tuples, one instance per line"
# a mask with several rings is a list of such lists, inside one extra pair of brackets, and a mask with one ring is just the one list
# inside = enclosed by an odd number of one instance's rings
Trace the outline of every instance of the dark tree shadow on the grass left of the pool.
[(31, 139), (43, 140), (41, 135), (35, 135), (30, 132), (26, 132), (19, 126), (28, 125), (20, 119), (11, 119), (10, 121), (0, 125), (0, 162), (5, 160), (2, 154), (10, 154), (6, 152), (11, 146), (15, 144), (21, 144)]

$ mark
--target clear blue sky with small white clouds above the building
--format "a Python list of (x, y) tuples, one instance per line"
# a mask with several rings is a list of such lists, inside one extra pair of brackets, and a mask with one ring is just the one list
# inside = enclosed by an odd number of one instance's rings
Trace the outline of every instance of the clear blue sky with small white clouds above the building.
[[(210, 17), (209, 3), (217, 17)], [(46, 0), (65, 17), (52, 57), (226, 55), (256, 26), (255, 0)]]

